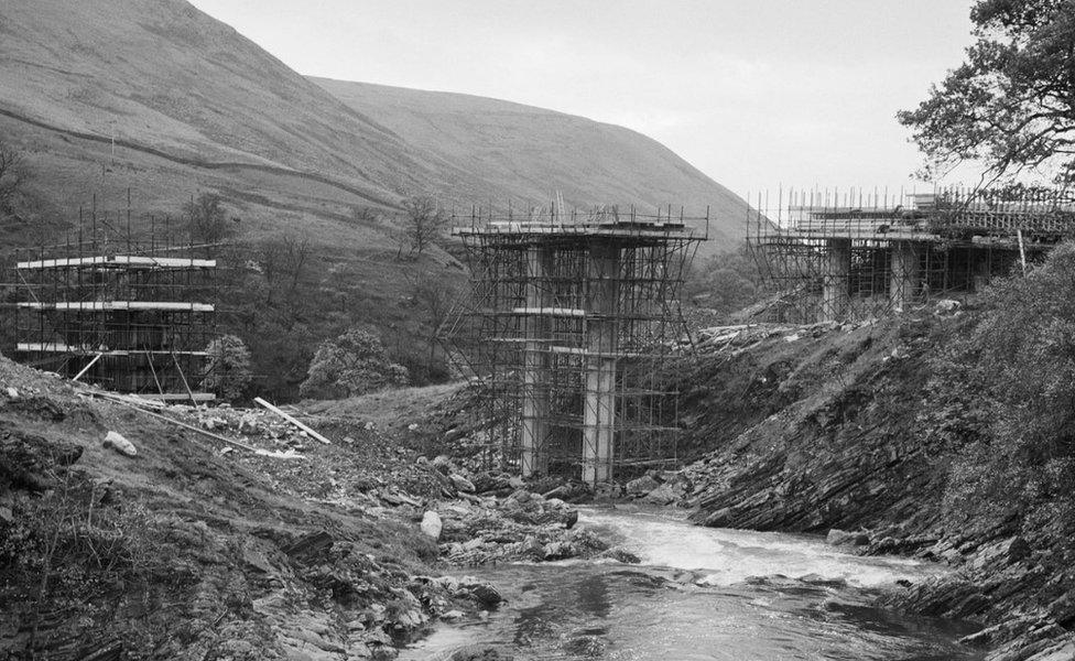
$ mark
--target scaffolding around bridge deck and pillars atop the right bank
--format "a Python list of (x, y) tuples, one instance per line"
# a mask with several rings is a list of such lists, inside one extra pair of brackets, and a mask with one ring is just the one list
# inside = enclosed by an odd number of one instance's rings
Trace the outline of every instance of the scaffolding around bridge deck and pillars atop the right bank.
[(772, 199), (758, 196), (747, 236), (780, 322), (864, 319), (964, 299), (1075, 235), (1075, 201), (1058, 191), (813, 189)]

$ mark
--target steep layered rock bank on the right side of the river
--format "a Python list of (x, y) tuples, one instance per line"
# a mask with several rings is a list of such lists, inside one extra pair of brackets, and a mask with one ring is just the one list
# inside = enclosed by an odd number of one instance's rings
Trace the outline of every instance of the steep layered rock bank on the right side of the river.
[(956, 571), (883, 604), (980, 621), (966, 642), (993, 659), (1075, 658), (1075, 571), (1058, 522), (987, 521), (946, 500), (960, 451), (951, 431), (968, 426), (967, 408), (936, 358), (975, 323), (927, 310), (856, 327), (714, 330), (681, 383), (687, 444), (708, 452), (662, 494), (704, 525), (854, 531), (829, 539), (948, 563)]

